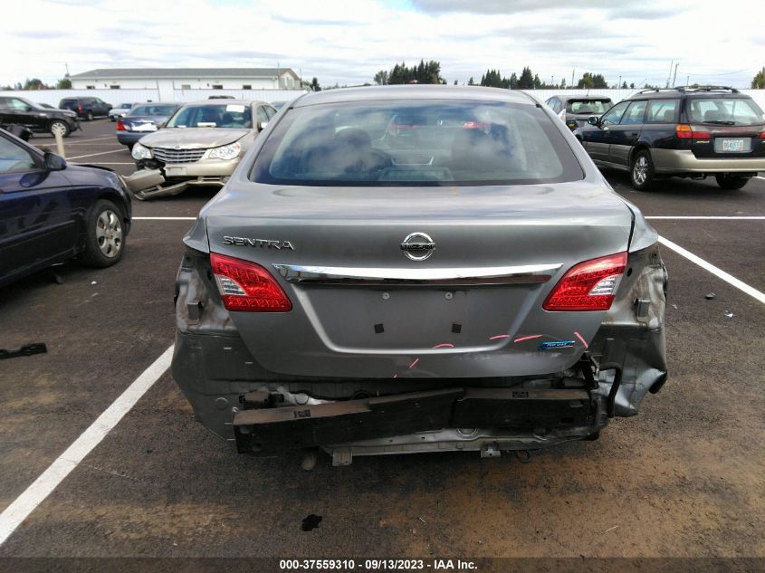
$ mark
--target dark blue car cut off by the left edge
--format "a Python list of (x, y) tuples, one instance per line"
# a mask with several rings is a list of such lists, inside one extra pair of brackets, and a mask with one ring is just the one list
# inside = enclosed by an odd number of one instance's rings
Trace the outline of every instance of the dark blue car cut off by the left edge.
[(74, 257), (117, 263), (130, 217), (113, 171), (68, 164), (0, 129), (0, 286)]

